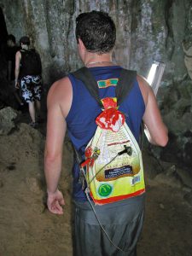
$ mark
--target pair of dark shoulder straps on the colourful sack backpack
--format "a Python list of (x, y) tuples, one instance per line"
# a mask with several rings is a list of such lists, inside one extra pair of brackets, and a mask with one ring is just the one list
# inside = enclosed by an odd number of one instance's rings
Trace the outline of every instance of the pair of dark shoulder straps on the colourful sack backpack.
[[(98, 102), (99, 106), (102, 107), (98, 85), (96, 84), (96, 79), (90, 73), (89, 68), (82, 67), (72, 74), (76, 79), (79, 79), (84, 83), (87, 90), (89, 90), (90, 95), (93, 96), (96, 99), (96, 102)], [(115, 89), (118, 106), (125, 100), (125, 97), (128, 96), (136, 76), (136, 71), (126, 70), (124, 68), (121, 70), (119, 82)]]

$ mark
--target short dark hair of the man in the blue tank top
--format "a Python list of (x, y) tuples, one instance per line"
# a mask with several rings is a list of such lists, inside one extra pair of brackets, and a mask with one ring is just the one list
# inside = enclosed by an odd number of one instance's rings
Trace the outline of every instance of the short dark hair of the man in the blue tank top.
[(76, 39), (80, 38), (88, 51), (103, 54), (113, 49), (116, 28), (107, 13), (94, 10), (80, 14), (76, 24)]

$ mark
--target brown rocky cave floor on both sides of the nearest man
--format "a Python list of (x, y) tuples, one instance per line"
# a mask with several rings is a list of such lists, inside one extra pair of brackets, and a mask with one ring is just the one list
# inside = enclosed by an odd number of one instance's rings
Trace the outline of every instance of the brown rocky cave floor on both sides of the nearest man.
[[(66, 205), (56, 216), (45, 205), (45, 124), (33, 129), (21, 114), (15, 125), (11, 119), (17, 114), (10, 108), (0, 111), (0, 255), (71, 256), (71, 145), (66, 139), (60, 183)], [(143, 159), (147, 197), (138, 256), (191, 256), (191, 177), (173, 163), (154, 159), (147, 149)]]

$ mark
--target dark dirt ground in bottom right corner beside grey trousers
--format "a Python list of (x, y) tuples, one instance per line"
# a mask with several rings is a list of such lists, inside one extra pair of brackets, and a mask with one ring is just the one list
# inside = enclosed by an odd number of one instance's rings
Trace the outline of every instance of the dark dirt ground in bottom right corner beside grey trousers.
[(138, 256), (191, 256), (191, 211), (180, 189), (150, 183)]

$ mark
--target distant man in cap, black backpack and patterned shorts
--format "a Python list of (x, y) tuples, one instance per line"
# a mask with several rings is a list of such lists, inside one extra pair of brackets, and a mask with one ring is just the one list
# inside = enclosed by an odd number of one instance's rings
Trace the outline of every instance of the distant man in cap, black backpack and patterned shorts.
[(23, 100), (28, 103), (29, 113), (32, 119), (29, 125), (35, 128), (38, 125), (36, 107), (38, 116), (40, 115), (41, 108), (41, 60), (37, 51), (30, 49), (30, 38), (20, 38), (20, 47), (21, 49), (17, 51), (15, 59), (15, 87), (21, 87)]

